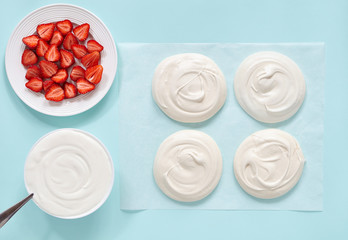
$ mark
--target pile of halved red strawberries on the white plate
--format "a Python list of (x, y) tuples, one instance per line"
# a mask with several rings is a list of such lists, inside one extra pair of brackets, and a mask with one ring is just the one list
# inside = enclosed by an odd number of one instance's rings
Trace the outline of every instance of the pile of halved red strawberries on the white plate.
[(35, 34), (24, 37), (25, 86), (55, 102), (93, 91), (102, 79), (99, 60), (104, 47), (87, 41), (89, 29), (88, 23), (74, 27), (66, 19), (40, 24)]

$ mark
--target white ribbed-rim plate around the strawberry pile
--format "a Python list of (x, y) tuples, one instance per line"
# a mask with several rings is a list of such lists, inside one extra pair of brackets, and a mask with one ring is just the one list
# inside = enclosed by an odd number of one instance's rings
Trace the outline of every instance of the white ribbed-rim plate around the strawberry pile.
[[(90, 35), (104, 46), (100, 64), (103, 78), (95, 90), (61, 102), (51, 102), (42, 93), (35, 93), (25, 87), (26, 68), (21, 63), (25, 45), (22, 38), (34, 34), (37, 25), (69, 19), (73, 24), (90, 24)], [(96, 105), (109, 91), (117, 69), (117, 51), (111, 33), (104, 23), (86, 9), (69, 5), (53, 4), (41, 7), (27, 15), (15, 28), (6, 48), (5, 56), (8, 80), (17, 96), (29, 107), (52, 116), (71, 116), (82, 113)], [(69, 72), (70, 74), (70, 72)]]

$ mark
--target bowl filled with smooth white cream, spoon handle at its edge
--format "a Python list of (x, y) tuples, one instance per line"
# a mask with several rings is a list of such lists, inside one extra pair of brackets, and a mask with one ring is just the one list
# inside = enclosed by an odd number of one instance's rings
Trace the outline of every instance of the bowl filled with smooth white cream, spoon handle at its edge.
[(113, 163), (94, 136), (77, 129), (59, 129), (33, 146), (24, 178), (42, 210), (60, 218), (78, 218), (95, 211), (108, 197)]

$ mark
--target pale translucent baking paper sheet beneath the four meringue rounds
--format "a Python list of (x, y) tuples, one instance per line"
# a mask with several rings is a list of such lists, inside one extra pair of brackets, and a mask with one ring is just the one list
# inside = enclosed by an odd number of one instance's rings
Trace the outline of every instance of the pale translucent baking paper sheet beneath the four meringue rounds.
[[(305, 101), (297, 114), (285, 122), (258, 122), (246, 114), (235, 99), (235, 72), (243, 59), (258, 51), (277, 51), (287, 55), (297, 63), (305, 77)], [(203, 123), (185, 124), (168, 118), (151, 95), (152, 76), (157, 64), (168, 56), (188, 52), (200, 53), (214, 60), (227, 81), (225, 105)], [(324, 44), (120, 43), (118, 53), (118, 122), (115, 125), (118, 128), (121, 209), (323, 209)], [(298, 184), (284, 196), (271, 200), (245, 193), (233, 174), (233, 158), (239, 144), (253, 132), (266, 128), (279, 128), (292, 134), (300, 143), (306, 159)], [(223, 156), (220, 183), (208, 197), (194, 203), (168, 198), (157, 187), (152, 174), (160, 143), (183, 129), (209, 134)]]

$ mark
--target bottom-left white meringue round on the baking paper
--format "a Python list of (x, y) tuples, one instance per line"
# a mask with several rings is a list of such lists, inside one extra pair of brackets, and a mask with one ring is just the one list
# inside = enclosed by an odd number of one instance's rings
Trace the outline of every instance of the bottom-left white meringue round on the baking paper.
[(153, 173), (168, 197), (182, 202), (198, 201), (219, 183), (222, 156), (215, 141), (196, 130), (170, 135), (160, 145)]

